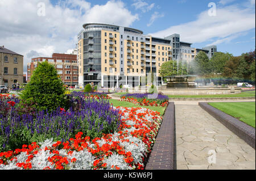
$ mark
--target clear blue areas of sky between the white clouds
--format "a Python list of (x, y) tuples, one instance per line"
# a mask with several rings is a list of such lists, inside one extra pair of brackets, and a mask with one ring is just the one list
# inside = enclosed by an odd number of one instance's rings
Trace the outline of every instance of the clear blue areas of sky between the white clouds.
[[(61, 1), (52, 0), (53, 5), (61, 3)], [(105, 5), (108, 1), (97, 0), (87, 1), (91, 3), (91, 6)], [(214, 2), (216, 4), (216, 13), (218, 16), (218, 8), (225, 9), (225, 7), (237, 6), (241, 10), (251, 9), (251, 14), (255, 15), (255, 1), (235, 1), (235, 0), (222, 0), (222, 1), (206, 1), (206, 0), (126, 0), (122, 1), (125, 3), (127, 10), (131, 14), (138, 14), (138, 20), (135, 20), (131, 27), (142, 30), (145, 34), (155, 33), (158, 31), (165, 30), (172, 26), (179, 26), (180, 24), (193, 22), (198, 19), (198, 16), (203, 11), (208, 11), (210, 7), (208, 4)], [(141, 2), (142, 7), (138, 7)], [(152, 6), (150, 6), (152, 5)], [(156, 12), (156, 18), (150, 25), (150, 19), (152, 14)], [(82, 22), (83, 23), (83, 22)], [(254, 28), (249, 28), (246, 31), (238, 31), (232, 34), (234, 37), (227, 38), (221, 43), (217, 43), (218, 51), (229, 52), (234, 56), (238, 56), (241, 53), (249, 52), (255, 49), (255, 23)], [(189, 27), (188, 27), (189, 28)], [(174, 32), (180, 33), (180, 32)], [(238, 35), (237, 35), (238, 33)], [(239, 34), (240, 33), (240, 34)], [(166, 34), (168, 36), (168, 34)], [(228, 36), (227, 36), (228, 37)], [(212, 39), (205, 39), (203, 42), (191, 42), (192, 47), (202, 48), (206, 45), (219, 40), (220, 37), (213, 37)], [(186, 41), (185, 37), (181, 36), (181, 41)]]

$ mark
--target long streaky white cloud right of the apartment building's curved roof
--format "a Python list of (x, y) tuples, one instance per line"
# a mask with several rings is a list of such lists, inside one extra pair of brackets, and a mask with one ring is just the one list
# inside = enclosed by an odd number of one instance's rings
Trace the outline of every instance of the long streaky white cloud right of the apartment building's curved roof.
[[(255, 10), (228, 6), (217, 9), (216, 16), (209, 16), (208, 10), (201, 12), (192, 22), (171, 26), (166, 30), (151, 33), (152, 36), (166, 37), (179, 33), (182, 41), (201, 43), (210, 39), (218, 42), (229, 40), (231, 35), (255, 28)], [(229, 38), (228, 38), (229, 37)]]

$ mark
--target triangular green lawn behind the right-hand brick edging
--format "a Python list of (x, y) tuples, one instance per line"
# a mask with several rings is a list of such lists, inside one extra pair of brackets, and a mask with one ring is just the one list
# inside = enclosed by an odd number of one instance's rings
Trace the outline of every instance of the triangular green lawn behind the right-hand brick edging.
[(208, 103), (255, 128), (255, 102)]

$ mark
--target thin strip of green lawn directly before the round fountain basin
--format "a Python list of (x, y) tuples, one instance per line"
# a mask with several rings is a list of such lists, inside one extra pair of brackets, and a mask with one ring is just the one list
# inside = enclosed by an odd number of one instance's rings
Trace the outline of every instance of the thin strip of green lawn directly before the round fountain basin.
[(169, 98), (237, 98), (255, 96), (255, 91), (241, 92), (240, 94), (218, 94), (218, 95), (168, 95)]

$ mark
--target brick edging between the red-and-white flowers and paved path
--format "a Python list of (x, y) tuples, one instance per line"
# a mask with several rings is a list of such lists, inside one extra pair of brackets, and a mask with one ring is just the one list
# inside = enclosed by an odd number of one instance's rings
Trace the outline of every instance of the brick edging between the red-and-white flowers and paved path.
[(174, 170), (174, 129), (175, 105), (169, 102), (164, 113), (163, 121), (156, 137), (146, 170)]

